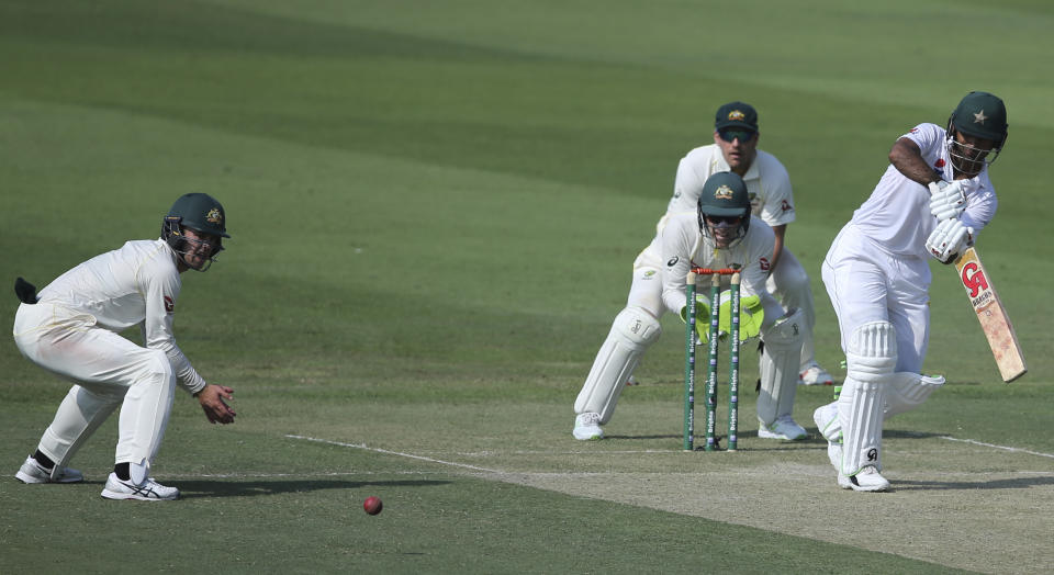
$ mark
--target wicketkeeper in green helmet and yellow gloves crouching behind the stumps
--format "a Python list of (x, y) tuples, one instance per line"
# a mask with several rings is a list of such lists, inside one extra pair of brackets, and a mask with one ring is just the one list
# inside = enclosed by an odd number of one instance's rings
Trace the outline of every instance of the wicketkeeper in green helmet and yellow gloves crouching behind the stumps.
[[(744, 304), (740, 330), (744, 338), (760, 332), (765, 343), (758, 398), (758, 437), (781, 440), (807, 437), (805, 429), (790, 417), (804, 319), (799, 309), (785, 312), (765, 289), (775, 234), (763, 221), (750, 215), (748, 193), (747, 184), (738, 174), (718, 172), (705, 182), (694, 212), (666, 218), (661, 235), (647, 250), (659, 253), (665, 263), (654, 273), (635, 275), (630, 305), (615, 318), (575, 401), (575, 439), (604, 437), (601, 425), (610, 419), (623, 383), (644, 350), (659, 338), (658, 318), (662, 311), (670, 309), (685, 318), (688, 269), (693, 266), (729, 268), (733, 263), (742, 269), (740, 290)], [(696, 325), (705, 330), (711, 302), (704, 295), (697, 297)]]

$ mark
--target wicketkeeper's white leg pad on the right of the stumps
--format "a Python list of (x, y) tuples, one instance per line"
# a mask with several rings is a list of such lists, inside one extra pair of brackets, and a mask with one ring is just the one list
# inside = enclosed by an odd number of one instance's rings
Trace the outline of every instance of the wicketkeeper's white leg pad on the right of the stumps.
[(798, 364), (804, 337), (804, 316), (794, 309), (761, 334), (765, 349), (759, 361), (761, 395), (758, 396), (758, 419), (772, 425), (794, 410)]

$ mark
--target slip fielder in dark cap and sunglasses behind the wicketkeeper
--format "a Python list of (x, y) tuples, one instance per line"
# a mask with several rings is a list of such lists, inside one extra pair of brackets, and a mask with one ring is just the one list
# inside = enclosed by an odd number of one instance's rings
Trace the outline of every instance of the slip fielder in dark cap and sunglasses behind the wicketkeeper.
[[(801, 311), (804, 322), (798, 383), (831, 385), (831, 374), (816, 362), (812, 341), (816, 306), (809, 274), (785, 244), (787, 225), (795, 218), (790, 177), (775, 156), (758, 149), (761, 135), (758, 131), (758, 112), (752, 105), (729, 102), (720, 106), (714, 128), (714, 144), (695, 148), (681, 159), (666, 217), (694, 211), (703, 183), (711, 174), (732, 171), (743, 178), (750, 193), (752, 213), (769, 224), (776, 237), (766, 289), (785, 308)], [(662, 225), (660, 222), (660, 229)]]

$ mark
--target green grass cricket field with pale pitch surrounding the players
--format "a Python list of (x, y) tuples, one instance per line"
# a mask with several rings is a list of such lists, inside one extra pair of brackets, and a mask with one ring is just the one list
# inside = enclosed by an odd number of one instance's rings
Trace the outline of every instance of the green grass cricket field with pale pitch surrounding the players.
[[(156, 237), (178, 195), (215, 195), (233, 238), (184, 274), (177, 330), (239, 414), (211, 427), (177, 395), (154, 471), (178, 503), (99, 497), (115, 418), (75, 461), (86, 484), (22, 485), (67, 385), (7, 338), (0, 572), (1049, 570), (1052, 29), (1024, 0), (0, 0), (0, 282), (43, 285)], [(753, 394), (740, 453), (681, 452), (673, 317), (610, 438), (571, 439), (719, 104), (753, 103), (790, 171), (788, 243), (834, 369), (823, 253), (896, 137), (978, 89), (1009, 109), (978, 249), (1024, 379), (999, 382), (934, 267), (926, 370), (950, 384), (887, 422), (892, 493), (838, 489), (817, 439), (758, 440)], [(799, 390), (810, 431), (830, 394)]]

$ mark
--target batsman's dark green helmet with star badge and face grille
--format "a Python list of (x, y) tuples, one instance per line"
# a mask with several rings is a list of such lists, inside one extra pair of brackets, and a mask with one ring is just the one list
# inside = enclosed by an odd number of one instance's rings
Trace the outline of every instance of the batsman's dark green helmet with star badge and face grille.
[[(976, 176), (985, 166), (996, 161), (1007, 142), (1007, 106), (997, 95), (988, 92), (969, 92), (958, 102), (948, 119), (946, 132), (945, 145), (952, 158), (952, 165), (963, 173)], [(995, 144), (990, 150), (963, 144), (955, 139), (956, 132), (966, 136), (990, 139)]]

